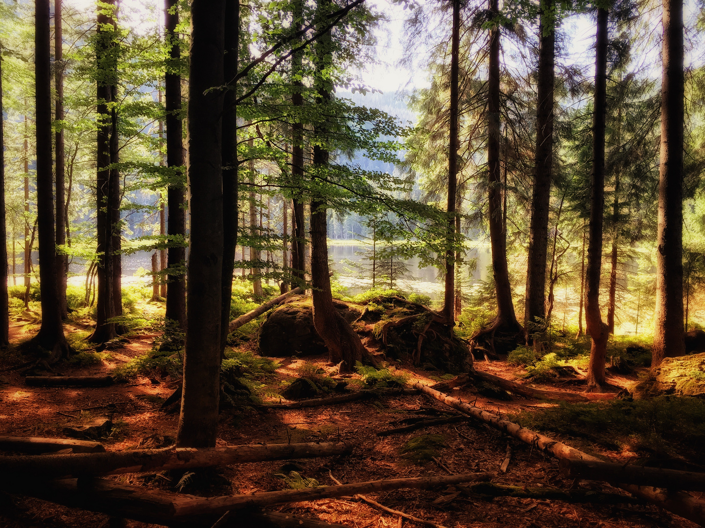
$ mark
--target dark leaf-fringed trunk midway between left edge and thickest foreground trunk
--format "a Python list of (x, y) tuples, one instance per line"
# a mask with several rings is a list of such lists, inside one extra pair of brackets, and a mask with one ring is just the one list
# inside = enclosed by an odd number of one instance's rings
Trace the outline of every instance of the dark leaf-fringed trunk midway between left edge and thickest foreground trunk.
[[(115, 56), (113, 6), (115, 0), (108, 0), (110, 8), (99, 8), (97, 23), (96, 58), (99, 75), (97, 83), (97, 178), (96, 178), (96, 226), (97, 226), (97, 320), (95, 331), (89, 338), (93, 343), (105, 343), (117, 337), (116, 325), (109, 322), (118, 313), (115, 310), (115, 281), (116, 273), (114, 258), (114, 203), (112, 196), (115, 189), (115, 178), (110, 168), (112, 155), (115, 149), (113, 142), (117, 142), (116, 115), (109, 110), (109, 103), (113, 102), (113, 86), (116, 83), (117, 60)], [(112, 26), (111, 29), (108, 29)], [(119, 175), (118, 175), (119, 184)], [(119, 203), (119, 198), (118, 198)], [(119, 212), (118, 212), (119, 213)], [(119, 279), (119, 277), (118, 277)], [(121, 301), (121, 299), (118, 299)]]

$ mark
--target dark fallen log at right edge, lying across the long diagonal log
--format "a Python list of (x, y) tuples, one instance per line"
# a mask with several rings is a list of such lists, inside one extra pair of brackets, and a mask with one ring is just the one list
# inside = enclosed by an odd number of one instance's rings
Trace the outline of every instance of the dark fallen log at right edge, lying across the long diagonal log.
[(705, 491), (705, 473), (661, 467), (614, 464), (596, 460), (560, 460), (560, 472), (571, 479), (601, 480), (684, 491)]

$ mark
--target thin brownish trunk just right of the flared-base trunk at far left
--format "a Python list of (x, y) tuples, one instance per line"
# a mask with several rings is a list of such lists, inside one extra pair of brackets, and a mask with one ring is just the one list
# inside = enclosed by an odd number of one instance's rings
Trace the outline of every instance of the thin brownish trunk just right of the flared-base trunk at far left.
[[(63, 149), (63, 34), (61, 32), (61, 0), (54, 0), (54, 86), (56, 89), (56, 245), (66, 244), (66, 192)], [(66, 280), (68, 278), (68, 255), (66, 251), (56, 254), (56, 279), (59, 282), (59, 311), (66, 319)]]

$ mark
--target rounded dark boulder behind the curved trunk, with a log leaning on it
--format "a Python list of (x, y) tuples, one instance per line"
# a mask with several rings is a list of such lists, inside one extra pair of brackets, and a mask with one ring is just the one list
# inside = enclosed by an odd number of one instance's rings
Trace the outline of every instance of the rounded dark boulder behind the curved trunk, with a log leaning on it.
[[(313, 325), (311, 298), (294, 296), (269, 315), (259, 329), (259, 353), (262, 356), (316, 356), (328, 353), (328, 348)], [(341, 301), (333, 301), (338, 313), (348, 322), (357, 317)]]

